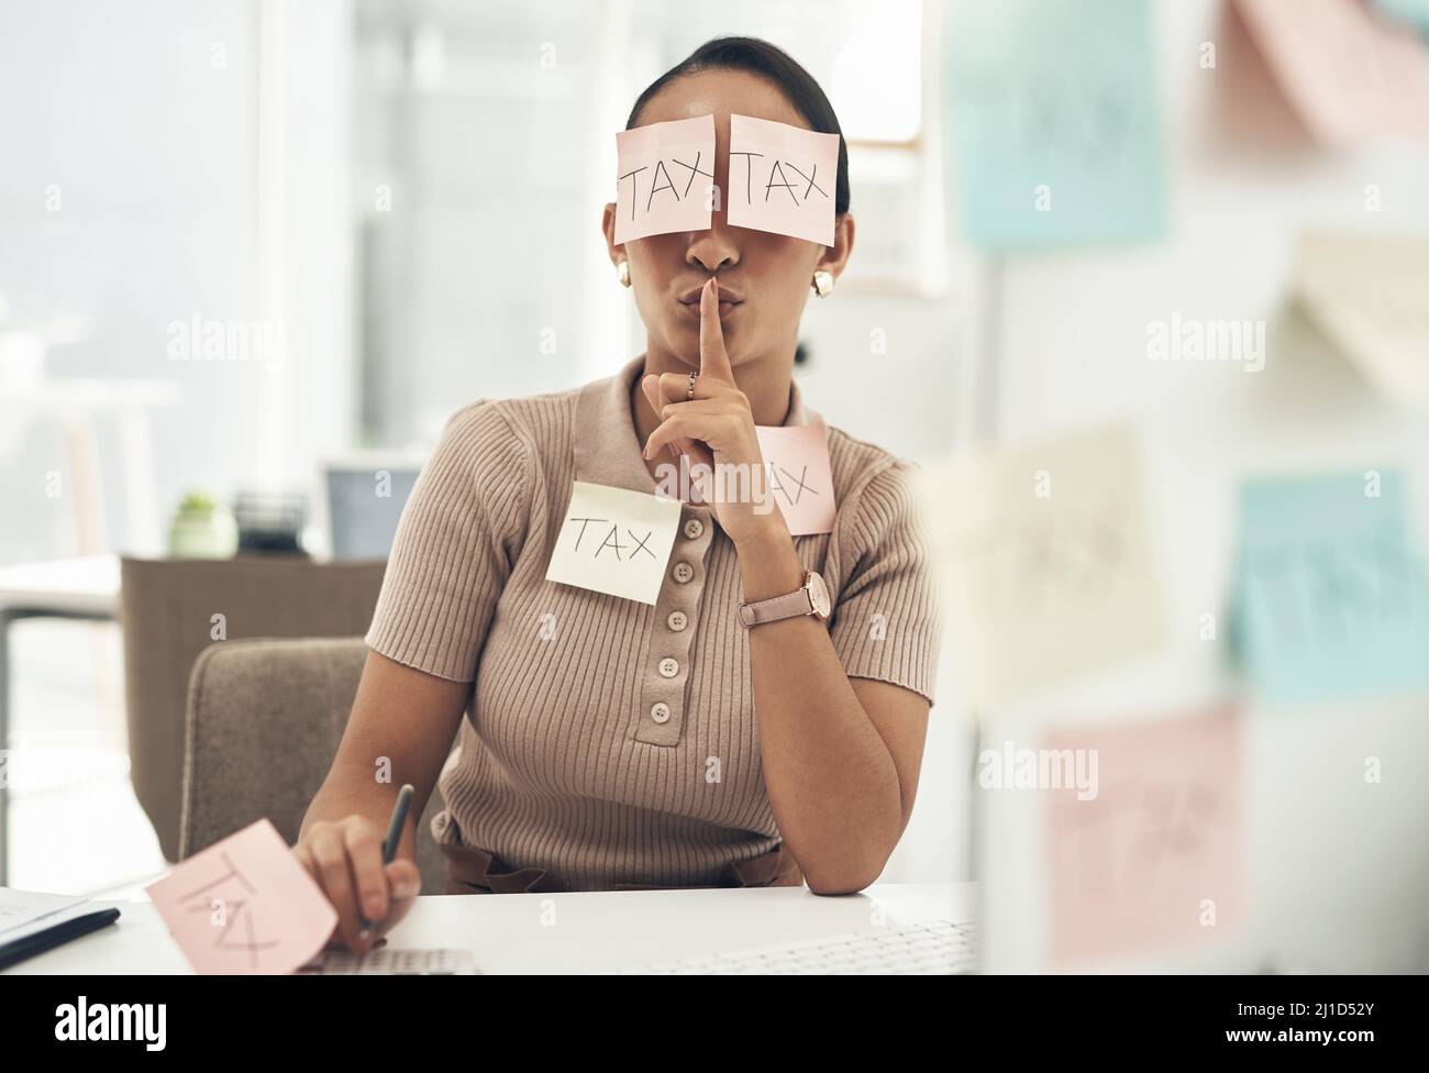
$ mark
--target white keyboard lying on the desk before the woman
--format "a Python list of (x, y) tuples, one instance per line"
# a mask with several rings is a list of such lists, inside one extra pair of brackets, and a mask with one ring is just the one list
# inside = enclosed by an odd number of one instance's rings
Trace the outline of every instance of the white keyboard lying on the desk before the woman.
[(850, 932), (827, 939), (775, 943), (709, 957), (684, 957), (620, 973), (712, 974), (830, 974), (915, 973), (955, 974), (977, 970), (977, 930), (973, 923), (927, 920), (919, 924)]

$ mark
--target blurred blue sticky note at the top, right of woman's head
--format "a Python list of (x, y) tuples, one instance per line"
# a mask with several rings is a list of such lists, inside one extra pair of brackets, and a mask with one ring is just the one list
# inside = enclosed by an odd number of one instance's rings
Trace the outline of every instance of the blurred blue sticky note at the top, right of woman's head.
[(967, 241), (1150, 241), (1166, 230), (1145, 0), (949, 6), (949, 144)]

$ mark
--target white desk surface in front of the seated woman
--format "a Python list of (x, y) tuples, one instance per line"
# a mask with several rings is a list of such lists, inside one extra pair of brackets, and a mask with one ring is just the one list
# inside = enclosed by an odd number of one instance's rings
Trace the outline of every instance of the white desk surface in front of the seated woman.
[[(119, 906), (119, 922), (4, 972), (190, 972), (149, 902), (103, 904)], [(820, 897), (807, 887), (439, 894), (417, 899), (387, 942), (393, 947), (470, 949), (486, 973), (564, 973), (949, 916), (976, 919), (976, 884), (879, 883), (845, 897)]]

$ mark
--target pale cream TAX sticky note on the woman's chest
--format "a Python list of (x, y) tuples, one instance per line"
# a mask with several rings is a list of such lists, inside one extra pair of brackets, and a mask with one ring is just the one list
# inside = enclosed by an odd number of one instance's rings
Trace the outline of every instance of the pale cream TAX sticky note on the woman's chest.
[(546, 580), (654, 604), (679, 524), (679, 500), (577, 480)]

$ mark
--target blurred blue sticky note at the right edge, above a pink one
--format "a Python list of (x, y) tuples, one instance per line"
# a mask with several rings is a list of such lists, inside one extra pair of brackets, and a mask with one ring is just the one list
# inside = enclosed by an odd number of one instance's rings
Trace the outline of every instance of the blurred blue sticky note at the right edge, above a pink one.
[(1232, 633), (1258, 696), (1429, 689), (1429, 576), (1399, 473), (1252, 480), (1239, 524)]

